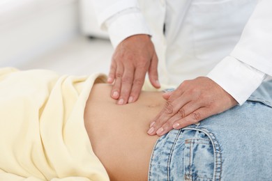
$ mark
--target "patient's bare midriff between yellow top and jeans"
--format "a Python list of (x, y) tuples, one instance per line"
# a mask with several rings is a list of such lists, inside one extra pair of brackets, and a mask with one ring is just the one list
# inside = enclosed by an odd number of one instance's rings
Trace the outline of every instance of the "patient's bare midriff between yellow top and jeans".
[(137, 102), (120, 106), (109, 96), (111, 90), (108, 84), (95, 84), (86, 102), (91, 145), (111, 180), (147, 180), (158, 136), (146, 132), (165, 100), (160, 92), (142, 92)]

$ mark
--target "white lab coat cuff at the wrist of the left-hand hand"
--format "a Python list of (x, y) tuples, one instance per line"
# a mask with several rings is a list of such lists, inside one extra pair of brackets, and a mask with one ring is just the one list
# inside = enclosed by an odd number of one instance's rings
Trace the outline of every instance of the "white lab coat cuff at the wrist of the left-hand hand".
[(109, 24), (108, 33), (114, 48), (130, 36), (139, 34), (151, 36), (151, 31), (142, 13), (129, 13), (119, 16)]

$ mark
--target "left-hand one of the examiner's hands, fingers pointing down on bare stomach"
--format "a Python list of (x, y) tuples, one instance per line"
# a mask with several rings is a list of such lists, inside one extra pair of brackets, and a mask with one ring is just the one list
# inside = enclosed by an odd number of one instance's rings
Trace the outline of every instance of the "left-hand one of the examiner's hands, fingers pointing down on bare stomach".
[(109, 84), (113, 83), (111, 97), (117, 104), (135, 102), (144, 84), (146, 72), (155, 88), (158, 81), (158, 57), (148, 35), (130, 36), (123, 40), (112, 56)]

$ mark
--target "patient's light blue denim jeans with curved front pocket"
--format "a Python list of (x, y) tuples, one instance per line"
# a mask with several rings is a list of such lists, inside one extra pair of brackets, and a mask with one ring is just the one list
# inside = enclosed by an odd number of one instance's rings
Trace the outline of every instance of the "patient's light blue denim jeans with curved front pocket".
[(172, 130), (154, 146), (149, 180), (272, 180), (272, 81), (242, 106)]

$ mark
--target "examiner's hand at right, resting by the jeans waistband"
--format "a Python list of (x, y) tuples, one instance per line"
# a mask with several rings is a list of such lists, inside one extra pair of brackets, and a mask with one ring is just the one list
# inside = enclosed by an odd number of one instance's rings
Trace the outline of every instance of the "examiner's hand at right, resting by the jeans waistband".
[(173, 92), (164, 93), (165, 107), (151, 121), (148, 134), (161, 136), (234, 107), (237, 102), (208, 77), (183, 83)]

